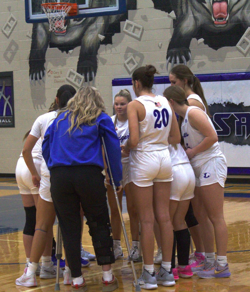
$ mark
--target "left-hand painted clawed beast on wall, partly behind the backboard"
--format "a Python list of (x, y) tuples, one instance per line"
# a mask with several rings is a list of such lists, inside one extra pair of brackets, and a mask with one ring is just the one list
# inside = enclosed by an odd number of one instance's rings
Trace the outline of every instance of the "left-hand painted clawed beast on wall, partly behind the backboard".
[[(90, 7), (93, 2), (89, 1)], [(74, 2), (74, 1), (66, 1)], [(136, 9), (136, 0), (126, 0), (127, 11)], [(44, 81), (47, 48), (58, 48), (62, 53), (80, 46), (77, 73), (85, 82), (93, 81), (97, 72), (97, 52), (100, 44), (112, 44), (112, 36), (120, 32), (120, 22), (128, 15), (111, 15), (100, 17), (76, 18), (66, 20), (66, 29), (49, 31), (49, 23), (34, 23), (32, 28), (31, 50), (29, 55), (29, 80), (36, 85), (36, 80)], [(105, 38), (101, 41), (98, 35)]]

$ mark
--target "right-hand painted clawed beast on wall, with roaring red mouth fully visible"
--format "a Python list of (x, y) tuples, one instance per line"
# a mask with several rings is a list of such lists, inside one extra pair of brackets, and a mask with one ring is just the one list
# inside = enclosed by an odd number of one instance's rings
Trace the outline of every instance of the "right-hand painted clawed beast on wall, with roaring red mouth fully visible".
[(218, 50), (236, 46), (250, 26), (249, 0), (152, 0), (154, 8), (174, 11), (173, 35), (167, 50), (167, 63), (187, 65), (192, 38)]

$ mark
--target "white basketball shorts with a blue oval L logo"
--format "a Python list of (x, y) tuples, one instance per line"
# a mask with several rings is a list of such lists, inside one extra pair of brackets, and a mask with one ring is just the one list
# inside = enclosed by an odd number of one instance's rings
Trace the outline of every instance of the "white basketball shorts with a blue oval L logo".
[(227, 176), (226, 157), (222, 154), (211, 158), (201, 166), (194, 168), (194, 174), (196, 187), (214, 183), (219, 183), (221, 187), (224, 187)]

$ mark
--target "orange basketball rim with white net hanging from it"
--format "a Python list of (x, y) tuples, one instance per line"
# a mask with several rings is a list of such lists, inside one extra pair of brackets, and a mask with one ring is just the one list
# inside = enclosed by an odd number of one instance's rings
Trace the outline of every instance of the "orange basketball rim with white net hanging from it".
[(51, 3), (48, 6), (42, 5), (42, 10), (46, 13), (49, 19), (49, 31), (54, 32), (55, 30), (65, 30), (64, 18), (70, 11), (71, 6), (67, 4)]

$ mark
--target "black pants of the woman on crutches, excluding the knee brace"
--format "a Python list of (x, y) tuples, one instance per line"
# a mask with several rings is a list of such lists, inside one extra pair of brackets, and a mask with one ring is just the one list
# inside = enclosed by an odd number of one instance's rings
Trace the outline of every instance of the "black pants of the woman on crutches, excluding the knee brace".
[(50, 182), (51, 197), (71, 275), (74, 278), (80, 277), (80, 203), (87, 220), (105, 212), (105, 217), (107, 215), (109, 220), (104, 175), (100, 167), (93, 165), (58, 166), (52, 168)]

